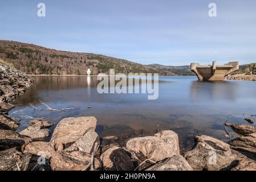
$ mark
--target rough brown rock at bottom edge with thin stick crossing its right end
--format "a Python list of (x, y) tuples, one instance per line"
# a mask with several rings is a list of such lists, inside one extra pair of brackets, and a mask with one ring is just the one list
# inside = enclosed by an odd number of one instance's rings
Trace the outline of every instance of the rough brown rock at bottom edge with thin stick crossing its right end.
[[(82, 171), (88, 170), (91, 166), (91, 155), (80, 151), (55, 152), (51, 157), (51, 168), (54, 171)], [(100, 168), (100, 162), (94, 158), (94, 166)]]

